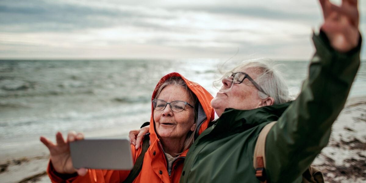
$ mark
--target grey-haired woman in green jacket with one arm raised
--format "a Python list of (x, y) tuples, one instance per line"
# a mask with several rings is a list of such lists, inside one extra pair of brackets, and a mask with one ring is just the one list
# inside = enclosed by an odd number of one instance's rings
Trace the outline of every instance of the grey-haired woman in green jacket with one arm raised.
[[(320, 3), (325, 22), (313, 36), (316, 52), (296, 100), (289, 101), (287, 86), (266, 64), (235, 67), (211, 102), (219, 119), (191, 146), (180, 182), (302, 182), (329, 141), (360, 64), (357, 0), (343, 0), (340, 7)], [(256, 176), (255, 145), (273, 121), (265, 138), (265, 169)]]

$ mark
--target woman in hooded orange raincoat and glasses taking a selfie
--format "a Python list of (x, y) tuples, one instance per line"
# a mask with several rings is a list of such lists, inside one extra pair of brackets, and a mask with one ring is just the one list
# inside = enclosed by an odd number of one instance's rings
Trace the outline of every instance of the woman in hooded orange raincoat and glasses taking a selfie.
[[(178, 73), (160, 79), (152, 95), (151, 145), (133, 182), (179, 182), (189, 147), (214, 119), (212, 98), (202, 86)], [(72, 166), (69, 142), (83, 138), (82, 133), (69, 132), (64, 140), (58, 132), (55, 144), (41, 137), (41, 142), (50, 151), (47, 172), (52, 182), (123, 182), (130, 171), (75, 169)], [(141, 148), (135, 149), (131, 145), (134, 162), (141, 154)]]

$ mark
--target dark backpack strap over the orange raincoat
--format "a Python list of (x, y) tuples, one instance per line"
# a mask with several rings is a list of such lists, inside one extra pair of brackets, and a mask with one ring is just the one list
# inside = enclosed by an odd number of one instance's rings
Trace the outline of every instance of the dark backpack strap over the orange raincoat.
[(149, 141), (150, 141), (150, 133), (145, 134), (142, 142), (142, 150), (141, 154), (137, 157), (137, 160), (135, 162), (134, 168), (131, 169), (130, 173), (128, 174), (127, 178), (123, 181), (123, 183), (132, 183), (136, 177), (140, 174), (142, 169), (142, 163), (143, 163), (143, 157), (145, 156), (145, 153), (147, 149), (149, 149)]

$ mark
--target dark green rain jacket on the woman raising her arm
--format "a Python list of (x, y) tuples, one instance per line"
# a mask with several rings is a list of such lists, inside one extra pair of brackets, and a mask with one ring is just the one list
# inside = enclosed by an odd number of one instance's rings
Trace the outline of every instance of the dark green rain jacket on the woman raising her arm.
[(327, 145), (360, 64), (361, 38), (347, 53), (332, 49), (323, 32), (313, 41), (317, 51), (296, 100), (248, 111), (226, 109), (190, 147), (181, 183), (259, 182), (253, 168), (255, 142), (262, 128), (276, 120), (266, 138), (267, 180), (301, 182)]

